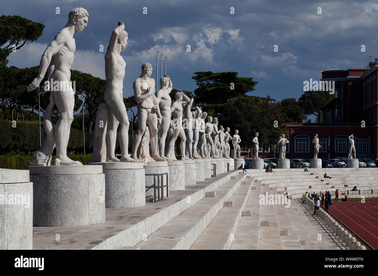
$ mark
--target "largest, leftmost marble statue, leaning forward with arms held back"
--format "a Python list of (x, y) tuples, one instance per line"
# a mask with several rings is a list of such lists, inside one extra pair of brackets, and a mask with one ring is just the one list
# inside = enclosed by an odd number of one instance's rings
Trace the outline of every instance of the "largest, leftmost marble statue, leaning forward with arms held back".
[[(43, 139), (40, 148), (34, 152), (34, 157), (29, 163), (34, 166), (51, 165), (51, 154), (56, 145), (56, 165), (79, 165), (79, 161), (73, 161), (67, 157), (67, 144), (70, 138), (71, 123), (73, 121), (73, 110), (75, 105), (74, 91), (71, 85), (66, 85), (71, 78), (71, 65), (76, 49), (74, 35), (81, 32), (87, 26), (88, 12), (84, 8), (74, 8), (68, 14), (66, 26), (56, 34), (54, 40), (46, 48), (39, 64), (37, 78), (26, 88), (28, 92), (38, 88), (40, 82), (48, 69), (48, 84), (45, 91), (50, 91), (50, 103), (43, 114), (43, 127), (46, 137)], [(52, 81), (59, 81), (59, 88), (56, 89)], [(47, 89), (49, 88), (49, 89)], [(59, 120), (55, 129), (51, 121), (51, 111), (56, 105), (59, 111)]]

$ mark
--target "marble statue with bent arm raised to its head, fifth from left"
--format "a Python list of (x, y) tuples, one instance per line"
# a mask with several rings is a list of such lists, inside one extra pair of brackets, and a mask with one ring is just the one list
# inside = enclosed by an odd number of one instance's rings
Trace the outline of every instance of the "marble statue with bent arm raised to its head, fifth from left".
[[(181, 138), (181, 160), (189, 159), (185, 156), (185, 141), (186, 135), (183, 129), (183, 105), (190, 102), (188, 96), (186, 96), (183, 91), (178, 89), (178, 92), (175, 94), (175, 101), (170, 106), (170, 112), (173, 114), (175, 121), (173, 121), (173, 131), (172, 136), (169, 138), (166, 147), (166, 156), (171, 160), (177, 160), (175, 156), (172, 156), (172, 152), (174, 152), (175, 142), (177, 140), (178, 135)], [(172, 124), (172, 122), (171, 122)], [(181, 145), (184, 145), (181, 146)]]

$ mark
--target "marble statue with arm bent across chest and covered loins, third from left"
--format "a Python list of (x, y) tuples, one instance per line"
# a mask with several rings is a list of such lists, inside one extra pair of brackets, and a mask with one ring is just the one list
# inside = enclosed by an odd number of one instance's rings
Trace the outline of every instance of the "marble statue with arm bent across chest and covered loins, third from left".
[(150, 132), (151, 157), (155, 161), (164, 161), (158, 155), (158, 124), (161, 123), (161, 114), (155, 96), (155, 80), (150, 78), (152, 64), (142, 65), (142, 74), (133, 84), (135, 100), (138, 103), (138, 132), (133, 142), (132, 158), (138, 161), (138, 147), (146, 130)]

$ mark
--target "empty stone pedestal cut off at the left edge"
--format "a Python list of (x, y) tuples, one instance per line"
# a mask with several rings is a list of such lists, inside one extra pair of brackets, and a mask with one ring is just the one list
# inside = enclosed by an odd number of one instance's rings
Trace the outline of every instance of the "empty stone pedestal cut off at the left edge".
[(33, 183), (29, 171), (0, 169), (0, 250), (33, 249)]

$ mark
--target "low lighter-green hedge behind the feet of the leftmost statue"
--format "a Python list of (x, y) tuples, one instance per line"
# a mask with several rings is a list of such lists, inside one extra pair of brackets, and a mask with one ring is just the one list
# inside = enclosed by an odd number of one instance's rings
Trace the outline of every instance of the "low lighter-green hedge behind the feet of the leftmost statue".
[[(0, 155), (0, 168), (27, 170), (28, 166), (30, 166), (28, 160), (32, 157), (32, 155)], [(91, 154), (68, 155), (68, 157), (72, 160), (80, 161), (83, 163), (83, 165), (87, 165), (88, 163), (92, 162)], [(55, 160), (54, 155), (53, 160)]]

